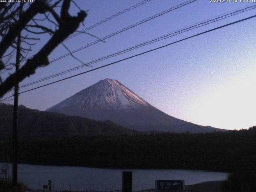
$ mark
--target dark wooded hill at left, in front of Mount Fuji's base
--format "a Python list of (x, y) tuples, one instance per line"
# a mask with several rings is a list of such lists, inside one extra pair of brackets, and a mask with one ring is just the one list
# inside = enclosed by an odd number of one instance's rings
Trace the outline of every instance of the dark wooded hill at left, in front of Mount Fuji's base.
[[(13, 106), (0, 103), (0, 141), (12, 139)], [(19, 140), (58, 139), (72, 136), (134, 134), (137, 131), (107, 120), (96, 121), (56, 112), (19, 107)]]

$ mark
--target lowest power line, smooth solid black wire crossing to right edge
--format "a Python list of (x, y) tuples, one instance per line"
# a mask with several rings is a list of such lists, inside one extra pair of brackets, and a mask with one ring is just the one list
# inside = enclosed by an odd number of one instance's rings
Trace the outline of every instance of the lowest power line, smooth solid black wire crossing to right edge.
[[(245, 21), (245, 20), (254, 18), (254, 17), (256, 17), (256, 15), (253, 15), (253, 16), (250, 16), (250, 17), (241, 19), (241, 20), (237, 20), (237, 21), (235, 21), (235, 22), (231, 22), (231, 23), (225, 24), (225, 25), (222, 25), (222, 26), (219, 26), (219, 27), (216, 27), (216, 28), (213, 28), (213, 29), (210, 29), (210, 30), (207, 30), (207, 31), (204, 31), (204, 32), (195, 34), (195, 35), (192, 35), (192, 36), (189, 36), (189, 37), (187, 37), (187, 38), (183, 38), (183, 39), (181, 39), (181, 40), (178, 40), (178, 41), (175, 41), (175, 42), (166, 44), (166, 45), (164, 45), (164, 46), (160, 46), (160, 47), (157, 47), (157, 48), (154, 48), (154, 49), (151, 49), (151, 50), (148, 50), (148, 51), (145, 51), (145, 52), (142, 52), (142, 53), (139, 53), (139, 54), (136, 54), (136, 55), (133, 55), (133, 56), (130, 56), (130, 57), (127, 57), (127, 58), (124, 58), (124, 59), (121, 59), (121, 60), (118, 60), (118, 61), (109, 63), (109, 64), (106, 64), (106, 65), (103, 65), (103, 66), (100, 66), (100, 67), (97, 67), (97, 68), (94, 68), (94, 69), (91, 69), (91, 70), (88, 70), (88, 71), (85, 71), (85, 72), (76, 74), (76, 75), (72, 75), (72, 76), (69, 76), (69, 77), (66, 77), (66, 78), (63, 78), (63, 79), (60, 79), (60, 80), (57, 80), (57, 81), (48, 83), (48, 84), (44, 84), (44, 85), (42, 85), (42, 86), (38, 86), (38, 87), (36, 87), (36, 88), (32, 88), (32, 89), (30, 89), (30, 90), (26, 90), (26, 91), (20, 92), (19, 94), (26, 93), (26, 92), (29, 92), (29, 91), (32, 91), (32, 90), (35, 90), (35, 89), (38, 89), (38, 88), (42, 88), (42, 87), (44, 87), (44, 86), (51, 85), (51, 84), (55, 84), (55, 83), (57, 83), (57, 82), (64, 81), (64, 80), (67, 80), (67, 79), (70, 79), (70, 78), (73, 78), (73, 77), (76, 77), (76, 76), (79, 76), (79, 75), (82, 75), (82, 74), (85, 74), (85, 73), (88, 73), (88, 72), (92, 72), (92, 71), (94, 71), (94, 70), (98, 70), (98, 69), (100, 69), (100, 68), (104, 68), (104, 67), (107, 67), (107, 66), (110, 66), (110, 65), (113, 65), (113, 64), (122, 62), (122, 61), (124, 61), (124, 60), (128, 60), (128, 59), (130, 59), (130, 58), (134, 58), (134, 57), (136, 57), (136, 56), (140, 56), (140, 55), (143, 55), (143, 54), (146, 54), (146, 53), (149, 53), (149, 52), (152, 52), (152, 51), (155, 51), (155, 50), (158, 50), (158, 49), (161, 49), (161, 48), (170, 46), (170, 45), (172, 45), (172, 44), (176, 44), (176, 43), (178, 43), (178, 42), (181, 42), (181, 41), (184, 41), (184, 40), (187, 40), (187, 39), (190, 39), (190, 38), (193, 38), (193, 37), (202, 35), (202, 34), (206, 34), (206, 33), (208, 33), (208, 32), (211, 32), (211, 31), (214, 31), (214, 30), (218, 30), (218, 29), (220, 29), (220, 28), (224, 28), (224, 27), (226, 27), (226, 26), (230, 26), (230, 25), (233, 25), (233, 24), (236, 24), (236, 23), (239, 23), (239, 22), (242, 22), (242, 21)], [(12, 96), (14, 96), (14, 95), (12, 95)], [(9, 97), (7, 97), (7, 98), (4, 98), (3, 100), (0, 100), (0, 102), (6, 100), (6, 99), (8, 99), (8, 98), (11, 98), (12, 96), (9, 96)]]

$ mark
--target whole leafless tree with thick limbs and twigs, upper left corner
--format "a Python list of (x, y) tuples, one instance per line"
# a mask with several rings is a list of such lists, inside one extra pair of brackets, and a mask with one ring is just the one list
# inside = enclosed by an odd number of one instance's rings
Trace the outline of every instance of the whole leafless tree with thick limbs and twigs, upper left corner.
[[(34, 74), (36, 68), (47, 66), (49, 54), (59, 44), (62, 44), (65, 38), (74, 33), (80, 23), (84, 21), (87, 14), (83, 10), (80, 10), (77, 16), (69, 14), (72, 2), (76, 5), (73, 0), (36, 0), (30, 3), (29, 7), (24, 9), (21, 14), (19, 14), (19, 10), (23, 6), (22, 4), (0, 3), (0, 75), (1, 71), (4, 72), (12, 68), (10, 60), (15, 54), (16, 39), (20, 32), (27, 33), (21, 36), (21, 41), (26, 46), (21, 47), (20, 59), (26, 58), (26, 54), (31, 51), (34, 42), (40, 40), (34, 36), (31, 37), (31, 34), (50, 34), (48, 42), (36, 54), (27, 59), (17, 73), (9, 74), (5, 80), (2, 80), (0, 76), (0, 98), (14, 87), (16, 81), (21, 82), (24, 78)], [(60, 10), (58, 11), (58, 9)], [(55, 29), (52, 29), (52, 26)]]

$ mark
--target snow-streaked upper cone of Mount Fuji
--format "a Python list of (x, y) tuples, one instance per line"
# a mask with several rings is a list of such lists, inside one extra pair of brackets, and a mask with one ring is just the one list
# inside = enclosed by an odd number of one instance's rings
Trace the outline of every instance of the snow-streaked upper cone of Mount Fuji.
[(48, 110), (58, 110), (68, 106), (88, 109), (109, 108), (116, 110), (126, 108), (129, 110), (140, 106), (150, 106), (150, 104), (117, 80), (104, 79), (74, 94)]

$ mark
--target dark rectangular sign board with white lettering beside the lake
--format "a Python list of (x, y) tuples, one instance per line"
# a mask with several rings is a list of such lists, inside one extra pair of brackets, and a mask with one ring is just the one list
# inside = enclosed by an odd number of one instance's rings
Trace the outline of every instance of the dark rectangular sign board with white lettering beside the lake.
[(155, 180), (156, 192), (183, 192), (184, 180)]

